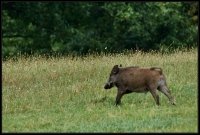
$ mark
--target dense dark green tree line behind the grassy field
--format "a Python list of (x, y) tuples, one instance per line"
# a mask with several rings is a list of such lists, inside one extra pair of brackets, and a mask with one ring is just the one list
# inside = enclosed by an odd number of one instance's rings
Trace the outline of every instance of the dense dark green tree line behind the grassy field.
[(3, 2), (3, 57), (197, 46), (197, 2)]

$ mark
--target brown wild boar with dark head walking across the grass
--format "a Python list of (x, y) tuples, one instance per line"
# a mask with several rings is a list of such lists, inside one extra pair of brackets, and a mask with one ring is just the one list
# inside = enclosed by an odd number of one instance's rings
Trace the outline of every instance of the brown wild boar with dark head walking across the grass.
[(115, 104), (121, 103), (124, 94), (131, 92), (146, 93), (150, 91), (157, 105), (160, 105), (157, 90), (164, 93), (171, 104), (175, 105), (175, 99), (168, 89), (165, 75), (159, 67), (140, 68), (137, 66), (121, 68), (115, 65), (110, 73), (104, 89), (116, 86), (118, 89)]

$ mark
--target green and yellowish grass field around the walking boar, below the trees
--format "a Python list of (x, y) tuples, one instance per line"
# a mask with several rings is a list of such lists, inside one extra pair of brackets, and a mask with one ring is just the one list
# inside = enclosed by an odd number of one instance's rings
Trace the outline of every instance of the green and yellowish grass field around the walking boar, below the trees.
[[(131, 93), (115, 106), (103, 86), (115, 64), (163, 68), (176, 106), (159, 92)], [(197, 49), (2, 63), (2, 132), (197, 132)]]

